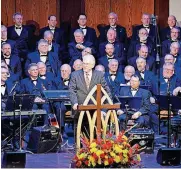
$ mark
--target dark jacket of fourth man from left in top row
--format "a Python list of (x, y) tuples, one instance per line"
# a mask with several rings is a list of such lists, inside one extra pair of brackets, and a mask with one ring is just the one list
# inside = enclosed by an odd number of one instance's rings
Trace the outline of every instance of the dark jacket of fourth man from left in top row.
[[(105, 26), (103, 29), (100, 30), (100, 36), (99, 36), (99, 41), (105, 42), (107, 40), (107, 31), (110, 29), (110, 25)], [(127, 44), (127, 33), (126, 29), (123, 26), (117, 25), (116, 26), (116, 40), (124, 43), (125, 45)]]

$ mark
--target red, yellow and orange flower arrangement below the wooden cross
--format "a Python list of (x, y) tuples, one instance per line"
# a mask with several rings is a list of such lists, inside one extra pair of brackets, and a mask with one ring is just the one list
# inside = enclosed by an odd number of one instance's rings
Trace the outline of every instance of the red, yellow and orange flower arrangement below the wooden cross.
[(91, 143), (82, 138), (83, 147), (73, 158), (77, 168), (119, 168), (139, 165), (139, 145), (131, 147), (130, 138), (121, 132), (117, 137), (108, 133), (105, 138), (95, 139)]

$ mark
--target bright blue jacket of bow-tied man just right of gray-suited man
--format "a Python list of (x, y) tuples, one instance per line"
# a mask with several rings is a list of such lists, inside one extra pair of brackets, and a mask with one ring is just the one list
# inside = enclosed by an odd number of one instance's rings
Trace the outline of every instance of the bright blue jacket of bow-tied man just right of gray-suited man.
[(115, 95), (119, 95), (119, 90), (120, 90), (120, 84), (124, 84), (124, 75), (121, 72), (116, 73), (116, 78), (114, 81), (112, 81), (110, 73), (106, 72), (105, 73), (105, 79), (106, 82), (111, 90), (112, 96), (114, 97)]

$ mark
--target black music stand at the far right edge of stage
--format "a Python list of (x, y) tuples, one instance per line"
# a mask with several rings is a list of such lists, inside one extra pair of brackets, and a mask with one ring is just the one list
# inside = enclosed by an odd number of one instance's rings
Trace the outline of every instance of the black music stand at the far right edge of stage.
[[(160, 106), (160, 109), (168, 110), (168, 141), (167, 141), (167, 147), (170, 146), (170, 115), (171, 111), (177, 111), (181, 109), (181, 98), (177, 96), (168, 96), (168, 95), (156, 95), (156, 98), (158, 100), (158, 104)], [(159, 112), (159, 128), (160, 128), (160, 112)]]

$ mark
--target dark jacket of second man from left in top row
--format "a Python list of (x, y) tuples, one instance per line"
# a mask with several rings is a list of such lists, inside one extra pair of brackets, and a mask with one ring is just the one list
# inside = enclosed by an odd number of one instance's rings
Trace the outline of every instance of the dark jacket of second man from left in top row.
[[(40, 29), (40, 39), (44, 38), (44, 32), (50, 31), (50, 27), (46, 26), (42, 29)], [(65, 37), (64, 37), (64, 30), (60, 28), (55, 28), (53, 40), (60, 45), (60, 52), (65, 51)]]

